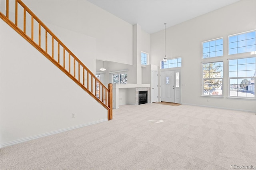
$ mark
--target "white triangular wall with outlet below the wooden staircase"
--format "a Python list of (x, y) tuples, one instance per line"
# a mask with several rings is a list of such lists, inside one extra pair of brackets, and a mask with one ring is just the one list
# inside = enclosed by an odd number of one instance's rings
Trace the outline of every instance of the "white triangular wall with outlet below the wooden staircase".
[[(0, 22), (2, 146), (107, 120), (104, 107), (10, 26)], [(74, 41), (72, 38), (79, 42), (78, 47), (88, 45), (83, 35), (70, 31), (68, 34), (70, 42)], [(73, 50), (80, 53), (75, 46)], [(72, 113), (76, 118), (72, 118)]]

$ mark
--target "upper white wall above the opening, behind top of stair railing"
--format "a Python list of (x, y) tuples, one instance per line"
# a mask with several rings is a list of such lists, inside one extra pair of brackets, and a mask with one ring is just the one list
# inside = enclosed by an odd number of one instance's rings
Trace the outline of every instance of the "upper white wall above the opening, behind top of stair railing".
[(128, 22), (86, 0), (24, 0), (24, 3), (42, 22), (95, 38), (97, 59), (132, 64), (132, 25)]

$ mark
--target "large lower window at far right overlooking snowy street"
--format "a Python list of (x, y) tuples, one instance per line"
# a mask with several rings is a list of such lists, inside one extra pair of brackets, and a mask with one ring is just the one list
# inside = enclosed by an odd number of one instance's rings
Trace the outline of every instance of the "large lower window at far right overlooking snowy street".
[(228, 65), (229, 96), (255, 98), (256, 57), (231, 59)]

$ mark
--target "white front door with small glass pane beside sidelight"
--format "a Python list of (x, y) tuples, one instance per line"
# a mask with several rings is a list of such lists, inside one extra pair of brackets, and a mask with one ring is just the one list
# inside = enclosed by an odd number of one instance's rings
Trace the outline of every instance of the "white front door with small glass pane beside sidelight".
[(174, 103), (174, 73), (175, 71), (162, 71), (161, 72), (161, 101)]

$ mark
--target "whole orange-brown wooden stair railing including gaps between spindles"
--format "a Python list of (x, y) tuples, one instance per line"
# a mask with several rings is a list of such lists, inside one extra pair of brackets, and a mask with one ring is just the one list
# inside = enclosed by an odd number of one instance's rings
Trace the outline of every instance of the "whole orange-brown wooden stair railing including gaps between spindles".
[[(15, 12), (10, 12), (9, 0), (5, 0), (5, 3), (6, 15), (0, 12), (0, 18), (105, 107), (108, 110), (108, 120), (111, 120), (112, 84), (105, 87), (21, 0), (15, 0)], [(15, 14), (12, 17), (14, 22), (10, 19), (12, 14)]]

